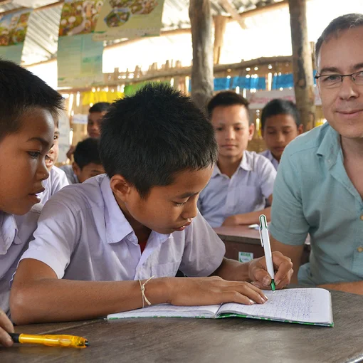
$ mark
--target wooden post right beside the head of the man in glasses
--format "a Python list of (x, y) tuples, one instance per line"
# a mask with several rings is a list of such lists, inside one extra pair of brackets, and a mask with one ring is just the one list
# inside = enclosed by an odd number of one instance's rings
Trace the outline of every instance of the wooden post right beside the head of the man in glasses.
[(307, 39), (306, 0), (289, 0), (296, 105), (304, 131), (315, 126), (315, 92), (312, 52)]

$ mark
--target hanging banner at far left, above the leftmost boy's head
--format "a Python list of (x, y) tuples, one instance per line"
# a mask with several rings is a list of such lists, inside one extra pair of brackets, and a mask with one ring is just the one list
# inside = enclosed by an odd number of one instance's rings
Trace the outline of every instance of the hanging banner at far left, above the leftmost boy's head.
[(0, 16), (0, 57), (21, 63), (26, 29), (31, 9)]

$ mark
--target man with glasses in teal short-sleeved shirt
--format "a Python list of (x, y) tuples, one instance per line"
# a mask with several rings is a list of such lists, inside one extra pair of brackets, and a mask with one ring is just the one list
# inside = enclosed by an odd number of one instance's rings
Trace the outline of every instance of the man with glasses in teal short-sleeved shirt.
[[(363, 294), (363, 14), (333, 20), (316, 43), (327, 122), (285, 148), (273, 190), (273, 250), (292, 282)], [(307, 234), (310, 263), (300, 266)]]

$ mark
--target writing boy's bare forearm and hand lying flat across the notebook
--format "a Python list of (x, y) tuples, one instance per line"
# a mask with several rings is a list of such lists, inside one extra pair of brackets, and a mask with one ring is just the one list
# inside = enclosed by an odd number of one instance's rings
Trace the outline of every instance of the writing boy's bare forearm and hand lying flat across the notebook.
[[(153, 278), (145, 285), (144, 293), (152, 304), (239, 302), (251, 305), (265, 302), (262, 291), (255, 286), (218, 277)], [(10, 296), (11, 316), (19, 325), (92, 319), (140, 307), (139, 281), (58, 279), (48, 265), (32, 258), (19, 263)]]

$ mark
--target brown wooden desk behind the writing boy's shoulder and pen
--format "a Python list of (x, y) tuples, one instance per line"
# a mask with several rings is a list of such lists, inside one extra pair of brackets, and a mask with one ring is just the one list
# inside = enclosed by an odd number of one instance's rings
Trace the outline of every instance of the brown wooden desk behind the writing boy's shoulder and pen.
[[(253, 258), (264, 256), (261, 246), (260, 233), (248, 226), (218, 227), (213, 228), (219, 238), (226, 245), (226, 258), (238, 261), (239, 252), (253, 253)], [(304, 251), (301, 256), (301, 265), (309, 261), (310, 236), (305, 242)]]

